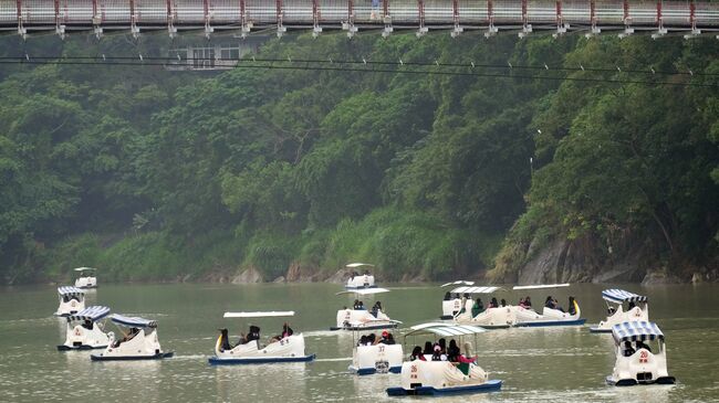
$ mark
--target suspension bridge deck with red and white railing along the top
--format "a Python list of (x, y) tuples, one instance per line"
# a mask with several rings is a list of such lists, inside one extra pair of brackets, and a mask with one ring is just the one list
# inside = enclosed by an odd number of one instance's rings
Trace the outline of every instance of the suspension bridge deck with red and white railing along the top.
[[(344, 30), (389, 35), (413, 30), (553, 34), (647, 32), (691, 38), (719, 32), (719, 2), (629, 0), (0, 0), (0, 33)], [(719, 36), (718, 36), (719, 38)]]

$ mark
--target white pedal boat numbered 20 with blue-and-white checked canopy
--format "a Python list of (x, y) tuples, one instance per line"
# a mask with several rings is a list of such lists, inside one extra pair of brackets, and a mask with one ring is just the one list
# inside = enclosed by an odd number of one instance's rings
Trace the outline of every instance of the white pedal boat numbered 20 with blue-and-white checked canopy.
[[(631, 321), (614, 325), (616, 361), (612, 375), (606, 378), (609, 385), (632, 386), (636, 384), (673, 384), (674, 377), (667, 372), (667, 351), (664, 333), (656, 324), (649, 321)], [(656, 340), (655, 352), (649, 351), (646, 340)], [(640, 341), (644, 346), (633, 342)], [(631, 347), (627, 351), (627, 343)], [(638, 348), (636, 348), (638, 347)]]

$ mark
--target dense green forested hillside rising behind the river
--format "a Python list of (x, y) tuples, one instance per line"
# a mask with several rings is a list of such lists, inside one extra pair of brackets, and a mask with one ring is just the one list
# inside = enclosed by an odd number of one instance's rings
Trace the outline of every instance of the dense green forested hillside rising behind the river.
[[(4, 39), (0, 55), (137, 46)], [(317, 280), (351, 261), (386, 280), (716, 278), (719, 86), (632, 82), (719, 85), (719, 41), (301, 35), (258, 56), (598, 79), (0, 64), (2, 282)]]

